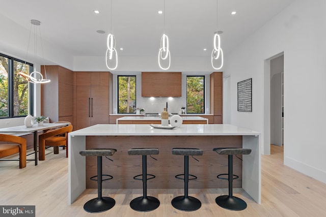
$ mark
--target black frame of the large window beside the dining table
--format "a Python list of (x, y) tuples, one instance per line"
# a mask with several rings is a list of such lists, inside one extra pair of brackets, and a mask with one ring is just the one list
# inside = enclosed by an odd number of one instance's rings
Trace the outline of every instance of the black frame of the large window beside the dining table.
[[(16, 118), (16, 117), (25, 117), (27, 115), (16, 115), (14, 116), (14, 61), (18, 61), (20, 63), (26, 64), (30, 66), (30, 73), (33, 72), (34, 65), (23, 61), (21, 59), (6, 55), (4, 53), (0, 53), (0, 56), (8, 58), (8, 116), (0, 117), (0, 119), (7, 119), (7, 118)], [(33, 83), (29, 82), (29, 91), (28, 91), (28, 98), (29, 98), (29, 105), (28, 105), (28, 113), (32, 116), (34, 115), (34, 85)]]

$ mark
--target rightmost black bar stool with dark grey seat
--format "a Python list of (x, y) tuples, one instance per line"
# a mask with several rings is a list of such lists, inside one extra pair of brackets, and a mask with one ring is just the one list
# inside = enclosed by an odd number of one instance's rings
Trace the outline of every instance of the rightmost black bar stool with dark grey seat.
[[(233, 179), (239, 178), (237, 175), (233, 175), (233, 154), (250, 154), (251, 149), (249, 148), (214, 148), (218, 154), (227, 154), (229, 156), (229, 173), (219, 174), (217, 177), (220, 179), (229, 180), (229, 195), (221, 195), (216, 197), (215, 202), (229, 210), (243, 210), (247, 208), (247, 203), (244, 200), (233, 196)], [(223, 175), (228, 175), (228, 178), (221, 177)]]

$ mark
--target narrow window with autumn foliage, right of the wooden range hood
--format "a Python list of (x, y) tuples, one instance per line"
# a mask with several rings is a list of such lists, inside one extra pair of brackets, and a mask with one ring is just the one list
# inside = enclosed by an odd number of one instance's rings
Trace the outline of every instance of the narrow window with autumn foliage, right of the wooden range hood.
[(187, 76), (187, 113), (205, 113), (205, 76)]

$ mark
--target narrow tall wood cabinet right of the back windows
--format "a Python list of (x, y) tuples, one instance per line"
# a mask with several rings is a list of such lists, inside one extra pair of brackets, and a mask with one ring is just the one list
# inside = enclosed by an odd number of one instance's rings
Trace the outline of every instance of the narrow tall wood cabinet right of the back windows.
[(214, 123), (223, 123), (223, 72), (210, 74), (210, 113)]

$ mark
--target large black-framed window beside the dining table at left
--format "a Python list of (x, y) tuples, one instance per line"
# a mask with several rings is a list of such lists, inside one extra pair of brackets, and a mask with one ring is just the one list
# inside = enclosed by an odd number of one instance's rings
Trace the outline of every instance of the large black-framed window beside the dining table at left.
[[(33, 84), (18, 73), (30, 74), (33, 65), (0, 53), (0, 118), (25, 116), (33, 111)], [(30, 86), (30, 88), (29, 88)]]

